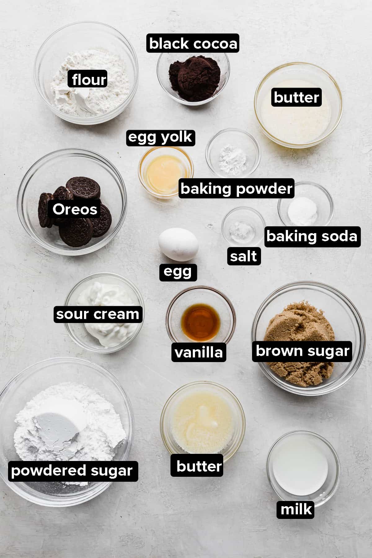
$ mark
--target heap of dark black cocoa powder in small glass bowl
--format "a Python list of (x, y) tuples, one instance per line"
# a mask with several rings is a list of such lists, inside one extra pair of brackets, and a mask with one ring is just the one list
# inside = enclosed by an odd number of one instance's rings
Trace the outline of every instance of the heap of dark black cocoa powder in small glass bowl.
[(221, 70), (212, 58), (191, 56), (185, 62), (173, 62), (169, 67), (172, 89), (182, 99), (204, 101), (214, 94), (220, 83)]

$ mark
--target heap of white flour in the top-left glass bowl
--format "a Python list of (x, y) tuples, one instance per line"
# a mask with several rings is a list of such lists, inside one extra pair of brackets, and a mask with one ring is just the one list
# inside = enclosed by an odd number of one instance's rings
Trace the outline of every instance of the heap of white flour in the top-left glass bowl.
[[(67, 70), (107, 70), (107, 87), (67, 85)], [(91, 117), (118, 107), (129, 94), (124, 61), (112, 52), (84, 50), (69, 54), (50, 84), (56, 107), (70, 116)]]

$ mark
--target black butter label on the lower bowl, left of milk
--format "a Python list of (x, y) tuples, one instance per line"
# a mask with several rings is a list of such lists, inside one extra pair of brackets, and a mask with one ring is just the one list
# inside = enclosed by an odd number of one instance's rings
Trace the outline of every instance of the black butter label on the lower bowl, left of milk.
[(222, 454), (172, 454), (171, 477), (222, 477)]

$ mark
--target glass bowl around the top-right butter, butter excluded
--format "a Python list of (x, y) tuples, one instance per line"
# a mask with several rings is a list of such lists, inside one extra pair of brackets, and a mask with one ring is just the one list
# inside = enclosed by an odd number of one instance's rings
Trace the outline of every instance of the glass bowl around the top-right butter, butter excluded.
[[(327, 128), (320, 136), (314, 138), (309, 143), (296, 144), (283, 141), (281, 138), (273, 136), (263, 124), (262, 107), (265, 98), (267, 99), (267, 95), (270, 94), (273, 87), (288, 79), (310, 81), (315, 86), (321, 87), (322, 93), (326, 95), (330, 105), (331, 117)], [(297, 107), (296, 109), (301, 110), (300, 107)], [(264, 76), (262, 81), (260, 81), (254, 95), (254, 112), (263, 133), (265, 136), (270, 138), (270, 140), (284, 147), (302, 149), (321, 143), (335, 131), (342, 116), (342, 95), (335, 79), (332, 78), (326, 70), (320, 68), (320, 66), (308, 64), (307, 62), (289, 62), (288, 64), (282, 64), (281, 66), (274, 68)]]

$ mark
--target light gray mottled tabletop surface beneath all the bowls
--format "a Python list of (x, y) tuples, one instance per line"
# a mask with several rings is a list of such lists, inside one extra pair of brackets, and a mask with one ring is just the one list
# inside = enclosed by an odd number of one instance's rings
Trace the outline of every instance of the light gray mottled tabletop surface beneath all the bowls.
[[(4, 8), (3, 8), (4, 10)], [(117, 27), (139, 59), (139, 88), (117, 119), (77, 127), (55, 117), (38, 96), (33, 59), (56, 28), (79, 20)], [(371, 353), (339, 391), (301, 398), (274, 387), (250, 361), (250, 326), (258, 305), (289, 281), (317, 280), (345, 292), (370, 330), (371, 230), (371, 8), (370, 2), (275, 2), (244, 0), (156, 3), (120, 0), (12, 0), (1, 17), (3, 95), (2, 286), (4, 358), (1, 384), (27, 364), (71, 355), (91, 359), (115, 374), (132, 401), (136, 419), (131, 458), (138, 483), (113, 484), (93, 501), (66, 509), (34, 506), (0, 485), (0, 555), (9, 558), (368, 558), (371, 555)], [(241, 50), (230, 55), (230, 81), (223, 94), (198, 110), (173, 102), (156, 78), (157, 55), (146, 52), (146, 33), (239, 32)], [(94, 41), (93, 41), (94, 42)], [(89, 45), (88, 45), (89, 46)], [(276, 146), (259, 131), (254, 90), (267, 71), (303, 60), (323, 66), (337, 79), (345, 110), (335, 134), (311, 150)], [(5, 84), (5, 88), (4, 88)], [(258, 138), (262, 162), (257, 176), (292, 176), (325, 185), (335, 200), (334, 225), (361, 225), (359, 249), (263, 250), (258, 268), (229, 268), (220, 223), (234, 200), (173, 200), (146, 196), (137, 178), (144, 148), (125, 145), (127, 128), (192, 128), (189, 149), (197, 175), (207, 175), (204, 150), (224, 127), (247, 129)], [(117, 238), (85, 257), (59, 257), (26, 236), (16, 213), (16, 192), (28, 167), (63, 147), (102, 153), (116, 165), (128, 189), (129, 210)], [(254, 200), (268, 223), (280, 224), (274, 200)], [(190, 228), (200, 240), (199, 282), (224, 291), (235, 305), (238, 325), (224, 364), (171, 363), (165, 311), (183, 285), (160, 283), (157, 236), (169, 226)], [(112, 271), (131, 279), (146, 304), (146, 322), (136, 341), (109, 356), (81, 351), (52, 323), (61, 304), (83, 277)], [(247, 417), (240, 451), (220, 479), (175, 479), (159, 433), (163, 403), (174, 389), (196, 379), (230, 388)], [(341, 482), (312, 521), (276, 519), (276, 497), (265, 475), (274, 440), (291, 429), (311, 429), (335, 446)]]

